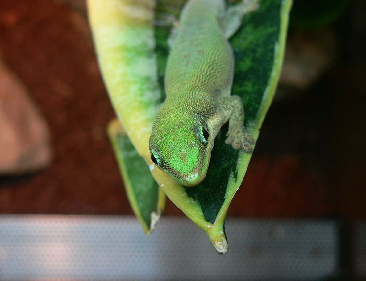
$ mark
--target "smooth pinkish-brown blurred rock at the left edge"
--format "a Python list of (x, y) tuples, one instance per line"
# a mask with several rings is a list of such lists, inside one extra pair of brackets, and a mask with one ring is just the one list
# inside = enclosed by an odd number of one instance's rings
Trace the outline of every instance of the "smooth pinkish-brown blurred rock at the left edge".
[(45, 120), (0, 60), (0, 175), (39, 170), (49, 164), (51, 155)]

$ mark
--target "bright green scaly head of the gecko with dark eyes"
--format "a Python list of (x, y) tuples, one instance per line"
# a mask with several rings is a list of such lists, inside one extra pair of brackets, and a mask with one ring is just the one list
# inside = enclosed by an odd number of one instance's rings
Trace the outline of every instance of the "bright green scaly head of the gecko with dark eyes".
[(184, 186), (202, 182), (208, 169), (214, 138), (202, 117), (195, 114), (168, 118), (154, 125), (149, 141), (151, 160)]

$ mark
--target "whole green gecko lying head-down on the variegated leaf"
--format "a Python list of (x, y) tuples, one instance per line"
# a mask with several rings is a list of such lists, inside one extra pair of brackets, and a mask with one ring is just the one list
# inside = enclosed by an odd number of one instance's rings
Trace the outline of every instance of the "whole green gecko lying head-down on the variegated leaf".
[(243, 15), (257, 8), (258, 0), (243, 0), (226, 10), (224, 0), (190, 0), (168, 39), (166, 98), (149, 149), (152, 161), (181, 185), (195, 186), (205, 178), (214, 139), (227, 121), (225, 143), (252, 152), (242, 99), (230, 95), (234, 56), (228, 38)]

